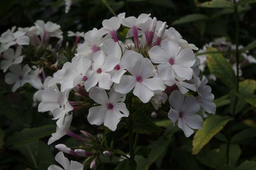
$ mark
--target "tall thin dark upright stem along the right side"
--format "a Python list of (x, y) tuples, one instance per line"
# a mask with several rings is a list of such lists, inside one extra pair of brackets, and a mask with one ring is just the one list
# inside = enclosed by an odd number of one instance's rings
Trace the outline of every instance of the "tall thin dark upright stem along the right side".
[[(238, 45), (239, 45), (239, 15), (238, 15), (238, 6), (236, 4), (236, 0), (234, 1), (234, 13), (235, 13), (235, 17), (236, 17), (236, 93), (239, 92), (239, 49), (238, 49)], [(238, 98), (237, 96), (235, 96), (235, 101), (234, 101), (234, 105), (233, 105), (233, 111), (232, 111), (232, 116), (235, 116), (235, 111), (236, 111), (236, 105), (238, 102)], [(233, 122), (230, 123), (230, 128), (229, 128), (229, 132), (228, 132), (228, 140), (227, 140), (227, 164), (230, 165), (230, 161), (229, 161), (229, 151), (230, 151), (230, 140), (231, 140), (231, 131), (233, 128)]]

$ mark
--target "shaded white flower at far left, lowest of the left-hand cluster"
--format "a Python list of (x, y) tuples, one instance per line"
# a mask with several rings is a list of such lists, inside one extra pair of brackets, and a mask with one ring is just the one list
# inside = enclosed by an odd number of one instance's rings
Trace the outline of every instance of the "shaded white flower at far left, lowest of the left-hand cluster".
[(17, 88), (22, 87), (26, 82), (28, 82), (27, 74), (31, 71), (28, 65), (25, 65), (21, 68), (20, 65), (12, 65), (10, 67), (9, 73), (5, 75), (5, 82), (9, 85), (12, 85), (12, 92), (15, 92)]

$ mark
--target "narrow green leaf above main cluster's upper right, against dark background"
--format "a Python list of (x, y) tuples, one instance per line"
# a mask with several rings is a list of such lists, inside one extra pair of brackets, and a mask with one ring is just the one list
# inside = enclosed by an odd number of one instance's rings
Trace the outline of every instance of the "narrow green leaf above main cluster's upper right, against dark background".
[(199, 20), (208, 20), (209, 17), (207, 17), (204, 14), (189, 14), (184, 17), (181, 17), (178, 20), (175, 20), (172, 25), (178, 25), (178, 24), (183, 24), (183, 23), (190, 23), (194, 21), (199, 21)]

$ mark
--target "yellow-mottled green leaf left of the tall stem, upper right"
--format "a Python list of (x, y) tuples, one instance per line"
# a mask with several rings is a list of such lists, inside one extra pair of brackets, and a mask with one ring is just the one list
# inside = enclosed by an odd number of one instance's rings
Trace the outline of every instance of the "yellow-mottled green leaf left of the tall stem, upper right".
[[(216, 51), (216, 48), (208, 48), (207, 51)], [(231, 64), (222, 54), (206, 54), (207, 65), (212, 74), (220, 79), (229, 88), (236, 87), (236, 75)]]

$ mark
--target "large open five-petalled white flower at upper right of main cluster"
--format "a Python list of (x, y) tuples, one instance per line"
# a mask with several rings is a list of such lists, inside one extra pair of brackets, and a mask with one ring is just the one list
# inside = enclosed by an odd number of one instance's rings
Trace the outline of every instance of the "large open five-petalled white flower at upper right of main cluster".
[(195, 54), (191, 49), (181, 49), (177, 42), (163, 40), (162, 48), (154, 46), (148, 55), (153, 63), (159, 64), (157, 69), (161, 79), (173, 80), (175, 74), (187, 80), (192, 78)]

